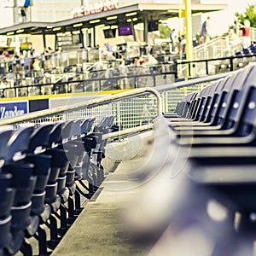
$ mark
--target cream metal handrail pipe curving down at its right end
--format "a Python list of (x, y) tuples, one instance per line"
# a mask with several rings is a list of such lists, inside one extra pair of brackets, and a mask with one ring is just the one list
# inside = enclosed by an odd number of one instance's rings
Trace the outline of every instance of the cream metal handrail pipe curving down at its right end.
[(52, 115), (58, 114), (58, 113), (65, 113), (68, 110), (72, 110), (72, 109), (79, 110), (84, 107), (90, 108), (93, 105), (99, 105), (102, 103), (113, 102), (113, 101), (119, 100), (120, 98), (143, 95), (146, 93), (152, 93), (156, 97), (157, 115), (160, 116), (162, 114), (162, 99), (161, 99), (160, 93), (157, 90), (154, 90), (153, 88), (145, 87), (145, 88), (140, 88), (140, 89), (136, 89), (136, 90), (129, 90), (129, 91), (121, 92), (121, 93), (115, 94), (113, 96), (105, 96), (105, 97), (95, 98), (92, 100), (88, 100), (86, 102), (75, 103), (75, 104), (72, 104), (69, 106), (44, 109), (42, 111), (26, 113), (24, 115), (12, 117), (12, 118), (0, 119), (0, 125), (12, 125), (12, 124), (16, 124), (19, 122), (24, 122), (25, 120), (29, 121), (29, 120), (37, 119), (37, 118), (41, 118), (41, 117), (52, 116)]

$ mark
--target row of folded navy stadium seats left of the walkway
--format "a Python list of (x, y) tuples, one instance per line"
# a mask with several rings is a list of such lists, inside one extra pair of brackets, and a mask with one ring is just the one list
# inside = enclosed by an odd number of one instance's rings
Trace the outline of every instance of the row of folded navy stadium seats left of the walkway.
[(104, 179), (101, 165), (106, 141), (117, 131), (113, 116), (37, 127), (22, 125), (0, 132), (0, 254), (33, 255), (38, 240), (47, 255)]

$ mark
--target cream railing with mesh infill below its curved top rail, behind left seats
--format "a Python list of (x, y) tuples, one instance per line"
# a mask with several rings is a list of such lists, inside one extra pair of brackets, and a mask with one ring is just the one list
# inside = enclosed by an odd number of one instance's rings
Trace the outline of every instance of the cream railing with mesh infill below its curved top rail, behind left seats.
[(108, 115), (115, 116), (115, 124), (121, 130), (133, 132), (148, 130), (153, 120), (162, 114), (162, 100), (157, 90), (142, 88), (122, 92), (113, 96), (94, 98), (88, 102), (67, 105), (60, 108), (45, 109), (9, 119), (1, 119), (0, 126), (24, 124), (39, 125), (69, 119), (95, 117), (96, 123)]

